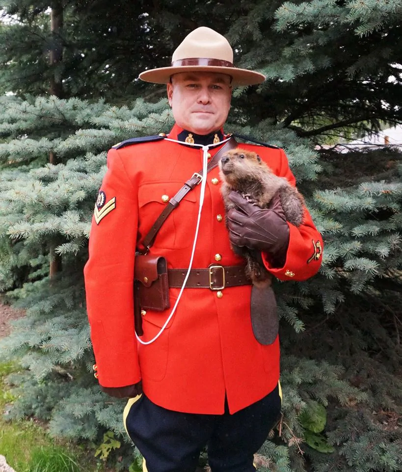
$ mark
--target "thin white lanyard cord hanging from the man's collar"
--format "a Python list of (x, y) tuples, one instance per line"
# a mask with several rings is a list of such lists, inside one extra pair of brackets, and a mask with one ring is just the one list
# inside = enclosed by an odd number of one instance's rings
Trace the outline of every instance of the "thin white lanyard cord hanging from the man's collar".
[[(221, 141), (219, 143), (219, 145), (223, 144), (223, 143), (226, 143), (226, 141), (229, 141), (230, 137)], [(175, 139), (170, 139), (170, 138), (165, 138), (166, 141), (172, 141), (173, 143), (179, 143), (179, 144), (183, 144), (182, 141), (177, 141)], [(199, 148), (202, 148), (203, 150), (203, 156), (202, 156), (202, 180), (201, 180), (201, 193), (200, 193), (200, 206), (198, 207), (198, 220), (197, 220), (197, 226), (195, 228), (195, 235), (194, 235), (194, 242), (192, 244), (192, 252), (191, 252), (191, 257), (190, 257), (190, 262), (188, 264), (188, 270), (187, 270), (187, 274), (186, 274), (186, 277), (184, 278), (184, 282), (183, 282), (183, 285), (182, 285), (182, 288), (180, 289), (180, 293), (179, 293), (179, 296), (177, 297), (177, 300), (176, 300), (176, 303), (174, 304), (174, 307), (172, 309), (172, 311), (170, 312), (170, 315), (167, 317), (167, 320), (165, 321), (165, 323), (163, 324), (163, 326), (161, 327), (161, 330), (159, 331), (159, 333), (153, 337), (150, 341), (142, 341), (142, 339), (139, 338), (139, 336), (137, 335), (137, 333), (135, 333), (135, 337), (137, 338), (137, 341), (139, 341), (141, 344), (143, 344), (144, 346), (147, 345), (147, 344), (152, 344), (154, 341), (156, 341), (159, 336), (161, 336), (162, 332), (164, 331), (164, 329), (166, 328), (167, 324), (169, 323), (169, 321), (171, 320), (172, 316), (174, 315), (175, 311), (176, 311), (176, 308), (177, 308), (177, 305), (179, 304), (179, 301), (180, 301), (180, 298), (182, 297), (182, 293), (183, 293), (183, 290), (186, 286), (186, 283), (187, 283), (187, 279), (188, 279), (188, 276), (190, 275), (190, 270), (191, 270), (191, 267), (192, 267), (192, 261), (194, 259), (194, 253), (195, 253), (195, 246), (196, 246), (196, 243), (197, 243), (197, 238), (198, 238), (198, 229), (200, 227), (200, 221), (201, 221), (201, 210), (202, 210), (202, 206), (204, 204), (204, 196), (205, 196), (205, 186), (207, 184), (207, 166), (208, 166), (208, 150), (210, 147), (214, 147), (216, 145), (209, 145), (209, 146), (202, 146), (200, 144), (192, 144), (190, 145), (191, 147), (193, 146), (198, 146)]]

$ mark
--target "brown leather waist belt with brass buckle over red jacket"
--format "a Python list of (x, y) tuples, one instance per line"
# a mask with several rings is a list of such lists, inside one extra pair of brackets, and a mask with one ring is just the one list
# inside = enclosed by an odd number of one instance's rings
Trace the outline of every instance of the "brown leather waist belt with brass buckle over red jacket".
[[(182, 288), (188, 269), (168, 269), (169, 287)], [(186, 287), (223, 290), (226, 287), (251, 285), (246, 278), (244, 266), (211, 265), (206, 269), (191, 269)]]

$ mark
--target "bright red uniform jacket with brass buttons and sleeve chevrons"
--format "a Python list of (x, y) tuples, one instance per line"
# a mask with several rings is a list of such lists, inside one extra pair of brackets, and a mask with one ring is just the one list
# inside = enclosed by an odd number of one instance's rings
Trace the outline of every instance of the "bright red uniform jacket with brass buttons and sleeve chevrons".
[[(182, 131), (175, 126), (169, 138)], [(282, 149), (241, 144), (257, 151), (278, 176), (295, 184)], [(220, 148), (210, 149), (214, 153)], [(134, 253), (167, 203), (194, 172), (202, 168), (201, 148), (161, 140), (110, 149), (107, 173), (98, 197), (85, 266), (91, 338), (99, 382), (120, 387), (142, 379), (149, 399), (169, 410), (231, 413), (267, 395), (279, 379), (279, 340), (269, 346), (254, 338), (250, 322), (251, 286), (186, 288), (161, 336), (150, 345), (134, 335)], [(191, 190), (163, 224), (151, 251), (169, 268), (188, 268), (197, 222), (200, 185)], [(229, 244), (219, 170), (207, 176), (204, 206), (193, 268), (242, 264)], [(305, 210), (303, 224), (290, 226), (286, 263), (268, 270), (281, 280), (305, 280), (321, 265), (322, 238)], [(173, 307), (180, 289), (169, 289)], [(147, 310), (144, 341), (166, 321), (165, 312)]]

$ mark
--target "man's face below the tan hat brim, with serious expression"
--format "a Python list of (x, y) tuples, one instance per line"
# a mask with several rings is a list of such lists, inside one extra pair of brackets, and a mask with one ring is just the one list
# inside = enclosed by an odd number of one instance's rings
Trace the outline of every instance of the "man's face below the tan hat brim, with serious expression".
[(195, 134), (220, 129), (229, 113), (230, 77), (213, 72), (181, 72), (167, 84), (167, 98), (176, 123)]

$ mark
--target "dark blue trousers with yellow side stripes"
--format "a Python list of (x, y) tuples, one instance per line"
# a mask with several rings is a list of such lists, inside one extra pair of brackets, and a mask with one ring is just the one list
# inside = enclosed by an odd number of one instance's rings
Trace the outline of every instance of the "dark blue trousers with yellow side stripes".
[(212, 472), (255, 472), (253, 455), (279, 419), (279, 388), (230, 414), (180, 413), (152, 403), (145, 395), (125, 410), (126, 430), (146, 461), (148, 472), (194, 472), (208, 447)]

